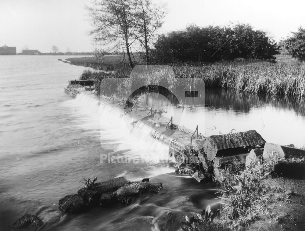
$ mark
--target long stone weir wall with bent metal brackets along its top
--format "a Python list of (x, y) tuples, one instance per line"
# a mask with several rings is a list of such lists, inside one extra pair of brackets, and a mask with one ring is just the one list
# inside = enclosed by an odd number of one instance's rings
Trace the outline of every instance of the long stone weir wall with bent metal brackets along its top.
[[(69, 81), (69, 83), (70, 82), (73, 83), (73, 81)], [(78, 94), (88, 91), (79, 87), (79, 85), (69, 84), (65, 88), (65, 92), (76, 98)], [(97, 97), (92, 92), (86, 94), (88, 94), (87, 97)], [(152, 111), (149, 109), (135, 110), (135, 108), (133, 108), (131, 110), (131, 108), (128, 108), (122, 112), (124, 106), (123, 103), (118, 105), (120, 101), (122, 101), (122, 99), (117, 99), (115, 97), (112, 99), (111, 96), (101, 95), (99, 104), (102, 106), (101, 110), (107, 111), (106, 113), (109, 113), (109, 110), (111, 110), (113, 114), (120, 116), (122, 120), (124, 120), (124, 125), (127, 126), (125, 129), (133, 130), (135, 135), (143, 136), (143, 134), (145, 134), (150, 136), (150, 138), (146, 137), (148, 140), (155, 139), (168, 145), (169, 157), (177, 164), (192, 163), (190, 162), (189, 154), (196, 152), (192, 143), (195, 143), (195, 140), (196, 143), (198, 143), (200, 139), (204, 138), (203, 135), (194, 134), (195, 132), (188, 128), (182, 128), (172, 124), (169, 118), (161, 116), (162, 111), (153, 108), (151, 109)], [(117, 112), (113, 112), (114, 110), (117, 110)], [(138, 130), (138, 134), (136, 130)], [(145, 138), (141, 137), (141, 139)]]

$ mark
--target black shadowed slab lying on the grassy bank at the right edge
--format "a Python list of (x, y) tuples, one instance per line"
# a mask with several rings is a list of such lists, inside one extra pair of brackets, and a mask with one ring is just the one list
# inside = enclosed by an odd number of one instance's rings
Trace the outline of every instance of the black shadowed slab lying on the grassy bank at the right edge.
[(296, 179), (305, 178), (305, 164), (304, 163), (278, 163), (274, 164), (273, 171), (285, 177), (292, 177)]

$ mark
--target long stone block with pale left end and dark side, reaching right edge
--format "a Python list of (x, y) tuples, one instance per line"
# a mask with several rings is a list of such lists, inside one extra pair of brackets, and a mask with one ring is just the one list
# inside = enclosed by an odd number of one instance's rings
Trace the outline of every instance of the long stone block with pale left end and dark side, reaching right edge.
[(305, 150), (291, 146), (265, 143), (263, 158), (264, 160), (285, 159), (288, 157), (305, 157)]

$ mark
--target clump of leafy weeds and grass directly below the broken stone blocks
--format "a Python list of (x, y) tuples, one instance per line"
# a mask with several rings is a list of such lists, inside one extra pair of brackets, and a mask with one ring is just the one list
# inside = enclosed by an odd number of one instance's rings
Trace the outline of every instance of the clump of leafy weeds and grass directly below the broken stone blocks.
[(271, 197), (270, 189), (262, 180), (271, 173), (274, 163), (253, 164), (240, 172), (231, 168), (225, 173), (221, 195), (223, 217), (233, 227), (247, 226), (250, 222), (268, 215), (266, 204)]

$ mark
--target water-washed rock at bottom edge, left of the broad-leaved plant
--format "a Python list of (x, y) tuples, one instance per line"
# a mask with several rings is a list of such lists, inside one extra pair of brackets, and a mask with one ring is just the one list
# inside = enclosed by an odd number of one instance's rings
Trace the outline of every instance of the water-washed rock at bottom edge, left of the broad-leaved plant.
[(175, 231), (180, 230), (182, 214), (180, 211), (163, 211), (152, 220), (153, 230)]

